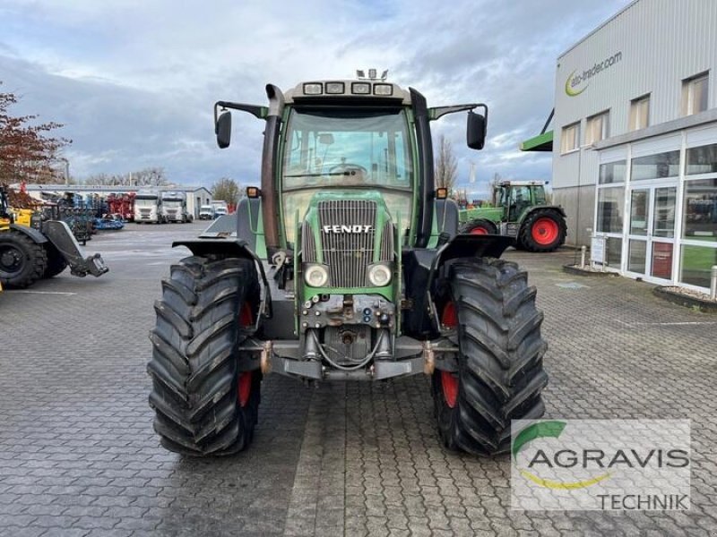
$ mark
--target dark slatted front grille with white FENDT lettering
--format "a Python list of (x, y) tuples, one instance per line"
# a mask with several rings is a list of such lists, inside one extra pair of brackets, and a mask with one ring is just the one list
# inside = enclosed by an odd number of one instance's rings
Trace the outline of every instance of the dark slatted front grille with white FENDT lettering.
[[(331, 200), (318, 206), (321, 248), (329, 266), (333, 287), (365, 287), (367, 267), (374, 258), (376, 201)], [(325, 226), (350, 226), (351, 232), (330, 230)], [(368, 231), (359, 226), (368, 226)]]

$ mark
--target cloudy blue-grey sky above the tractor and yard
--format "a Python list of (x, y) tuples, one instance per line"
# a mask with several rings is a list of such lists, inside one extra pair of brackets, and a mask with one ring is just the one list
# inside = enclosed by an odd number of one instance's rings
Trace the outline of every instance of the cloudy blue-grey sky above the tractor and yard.
[(488, 145), (464, 149), (463, 116), (435, 124), (454, 144), (460, 182), (495, 173), (549, 179), (548, 154), (520, 153), (553, 103), (555, 64), (628, 0), (0, 0), (2, 90), (17, 114), (65, 124), (71, 173), (162, 166), (169, 179), (256, 183), (262, 122), (235, 115), (230, 149), (212, 104), (264, 104), (263, 87), (389, 69), (429, 106), (482, 101)]

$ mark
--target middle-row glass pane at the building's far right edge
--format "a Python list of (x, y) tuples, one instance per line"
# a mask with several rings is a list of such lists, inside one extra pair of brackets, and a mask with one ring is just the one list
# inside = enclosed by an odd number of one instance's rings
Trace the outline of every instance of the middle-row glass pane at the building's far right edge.
[(684, 238), (717, 242), (717, 179), (686, 181), (684, 212)]

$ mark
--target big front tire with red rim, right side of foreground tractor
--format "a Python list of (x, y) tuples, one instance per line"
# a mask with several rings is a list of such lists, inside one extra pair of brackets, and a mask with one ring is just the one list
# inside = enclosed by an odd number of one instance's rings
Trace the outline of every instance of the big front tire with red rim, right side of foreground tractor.
[(445, 334), (459, 347), (458, 369), (436, 370), (432, 391), (445, 447), (478, 455), (510, 448), (511, 420), (536, 419), (548, 383), (535, 288), (515, 263), (457, 260), (444, 280)]

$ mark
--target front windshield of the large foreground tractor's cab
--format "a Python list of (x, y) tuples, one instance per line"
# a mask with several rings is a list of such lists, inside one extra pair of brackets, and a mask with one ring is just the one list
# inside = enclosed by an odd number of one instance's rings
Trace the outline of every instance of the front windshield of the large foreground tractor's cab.
[(281, 199), (287, 241), (296, 211), (304, 216), (315, 192), (381, 193), (394, 222), (410, 225), (413, 155), (402, 108), (293, 108), (285, 134)]

